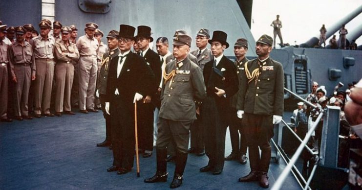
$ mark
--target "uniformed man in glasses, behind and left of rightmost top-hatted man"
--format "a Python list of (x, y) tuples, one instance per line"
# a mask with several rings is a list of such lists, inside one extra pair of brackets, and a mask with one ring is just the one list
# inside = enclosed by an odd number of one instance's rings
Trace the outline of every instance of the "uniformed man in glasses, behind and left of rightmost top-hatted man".
[[(197, 62), (204, 70), (204, 66), (207, 62), (213, 60), (213, 54), (209, 48), (207, 48), (208, 40), (210, 39), (210, 31), (206, 28), (201, 28), (196, 35), (196, 47), (197, 49), (191, 52), (197, 58)], [(204, 128), (201, 122), (201, 117), (198, 115), (197, 120), (192, 123), (191, 126), (191, 147), (189, 153), (195, 153), (197, 156), (203, 156), (204, 151)]]

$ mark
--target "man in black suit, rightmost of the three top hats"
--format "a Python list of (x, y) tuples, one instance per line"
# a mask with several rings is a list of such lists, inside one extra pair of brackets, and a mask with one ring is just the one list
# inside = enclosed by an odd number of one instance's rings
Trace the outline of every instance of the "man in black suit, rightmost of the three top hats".
[(220, 174), (224, 168), (225, 135), (228, 127), (228, 113), (225, 110), (230, 109), (230, 99), (238, 90), (236, 67), (224, 56), (224, 50), (229, 48), (227, 36), (223, 31), (213, 32), (209, 43), (214, 58), (205, 64), (203, 71), (207, 97), (201, 105), (201, 116), (209, 163), (200, 168), (200, 171), (212, 171), (213, 175)]

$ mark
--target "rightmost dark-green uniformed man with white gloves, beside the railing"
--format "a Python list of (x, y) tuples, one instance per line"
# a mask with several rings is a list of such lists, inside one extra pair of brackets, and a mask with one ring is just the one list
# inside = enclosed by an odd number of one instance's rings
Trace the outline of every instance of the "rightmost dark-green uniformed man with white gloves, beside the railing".
[(269, 57), (272, 45), (273, 39), (268, 35), (256, 41), (258, 58), (244, 65), (236, 104), (237, 117), (242, 119), (242, 132), (249, 146), (251, 168), (239, 182), (259, 180), (263, 188), (269, 187), (270, 139), (274, 136), (274, 124), (281, 121), (284, 107), (284, 71), (281, 63)]

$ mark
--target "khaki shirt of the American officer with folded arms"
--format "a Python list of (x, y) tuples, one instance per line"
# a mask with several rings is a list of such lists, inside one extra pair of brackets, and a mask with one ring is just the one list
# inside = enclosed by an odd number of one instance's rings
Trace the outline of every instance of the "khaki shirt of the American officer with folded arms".
[(57, 58), (57, 61), (76, 64), (79, 59), (78, 48), (75, 44), (70, 41), (68, 42), (69, 45), (65, 45), (64, 41), (55, 43), (55, 57)]

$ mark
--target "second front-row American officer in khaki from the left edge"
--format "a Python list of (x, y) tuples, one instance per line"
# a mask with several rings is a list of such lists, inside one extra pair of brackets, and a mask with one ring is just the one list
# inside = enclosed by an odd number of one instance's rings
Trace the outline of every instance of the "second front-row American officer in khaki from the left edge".
[(28, 95), (31, 81), (35, 80), (33, 49), (25, 40), (23, 26), (16, 27), (16, 42), (9, 47), (12, 79), (15, 83), (15, 119), (32, 119), (28, 112)]

